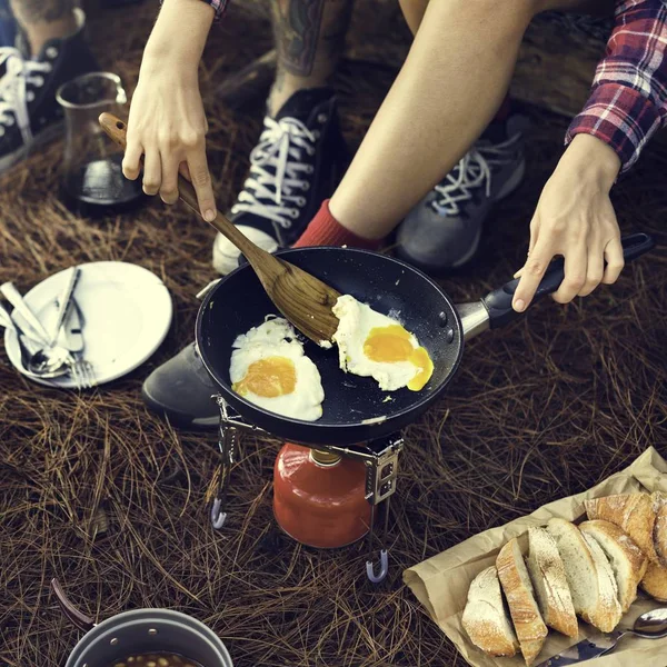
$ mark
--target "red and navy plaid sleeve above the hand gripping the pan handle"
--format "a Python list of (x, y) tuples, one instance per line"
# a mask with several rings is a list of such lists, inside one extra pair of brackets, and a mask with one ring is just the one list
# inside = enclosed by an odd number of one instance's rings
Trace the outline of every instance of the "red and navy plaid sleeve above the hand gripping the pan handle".
[(665, 126), (667, 0), (618, 1), (615, 28), (590, 97), (571, 122), (566, 143), (576, 135), (593, 135), (616, 151), (625, 172)]

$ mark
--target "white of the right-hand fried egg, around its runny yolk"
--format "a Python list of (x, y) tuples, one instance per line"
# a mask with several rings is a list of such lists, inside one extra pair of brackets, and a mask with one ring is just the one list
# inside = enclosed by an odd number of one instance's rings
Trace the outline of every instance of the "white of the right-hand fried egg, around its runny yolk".
[[(376, 312), (366, 303), (360, 303), (350, 295), (338, 298), (334, 315), (339, 319), (334, 341), (338, 345), (339, 365), (342, 370), (361, 377), (372, 377), (384, 391), (406, 387), (419, 372), (410, 361), (374, 361), (364, 352), (364, 344), (375, 327), (400, 325), (396, 319)], [(410, 344), (419, 347), (417, 338), (410, 334)]]

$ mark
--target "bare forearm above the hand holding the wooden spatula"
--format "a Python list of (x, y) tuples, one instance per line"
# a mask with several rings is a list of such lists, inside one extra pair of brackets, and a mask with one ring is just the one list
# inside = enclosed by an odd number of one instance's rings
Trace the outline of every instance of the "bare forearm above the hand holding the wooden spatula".
[(140, 77), (150, 76), (166, 61), (196, 73), (215, 16), (201, 0), (165, 0), (146, 44)]

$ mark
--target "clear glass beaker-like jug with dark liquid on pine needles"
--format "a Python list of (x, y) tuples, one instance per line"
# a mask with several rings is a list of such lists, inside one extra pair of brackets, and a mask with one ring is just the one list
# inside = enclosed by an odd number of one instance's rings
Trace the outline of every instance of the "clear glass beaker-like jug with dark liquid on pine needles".
[(140, 181), (122, 175), (122, 150), (98, 121), (107, 111), (123, 117), (128, 98), (117, 74), (91, 72), (62, 84), (56, 94), (64, 111), (62, 196), (80, 215), (121, 212), (143, 200)]

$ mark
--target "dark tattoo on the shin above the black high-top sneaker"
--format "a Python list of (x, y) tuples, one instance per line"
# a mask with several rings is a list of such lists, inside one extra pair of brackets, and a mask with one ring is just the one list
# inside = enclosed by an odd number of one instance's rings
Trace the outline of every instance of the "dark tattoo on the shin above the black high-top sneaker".
[[(327, 54), (336, 53), (345, 39), (351, 6), (351, 0), (273, 0), (276, 47), (282, 67), (292, 74), (309, 76), (320, 37)], [(325, 14), (330, 20), (320, 36)]]

